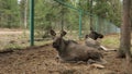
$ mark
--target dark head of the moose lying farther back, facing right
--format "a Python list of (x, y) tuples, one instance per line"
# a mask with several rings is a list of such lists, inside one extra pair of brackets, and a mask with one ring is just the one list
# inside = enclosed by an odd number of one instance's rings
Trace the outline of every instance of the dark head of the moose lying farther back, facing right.
[(88, 37), (92, 38), (94, 40), (97, 40), (98, 38), (103, 38), (103, 35), (95, 32), (92, 27), (90, 27), (90, 34), (86, 35), (86, 38)]

